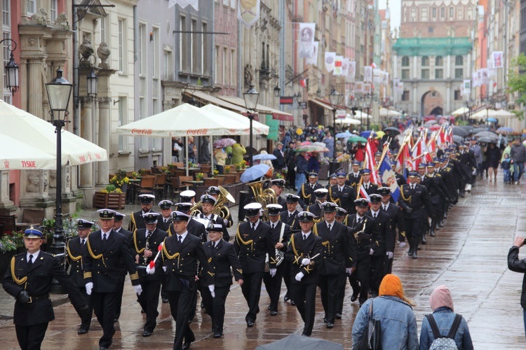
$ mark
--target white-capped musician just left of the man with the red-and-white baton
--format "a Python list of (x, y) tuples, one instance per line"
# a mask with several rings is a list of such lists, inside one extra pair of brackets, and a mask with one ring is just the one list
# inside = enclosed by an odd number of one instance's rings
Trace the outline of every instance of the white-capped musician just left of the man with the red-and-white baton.
[(146, 228), (140, 228), (133, 232), (132, 251), (137, 263), (137, 273), (142, 287), (142, 293), (137, 296), (142, 310), (146, 314), (146, 323), (142, 332), (143, 337), (149, 337), (157, 325), (159, 312), (159, 292), (161, 291), (161, 281), (163, 272), (161, 269), (155, 270), (154, 259), (159, 251), (159, 245), (168, 237), (168, 233), (157, 228), (159, 221), (158, 213), (144, 214)]

